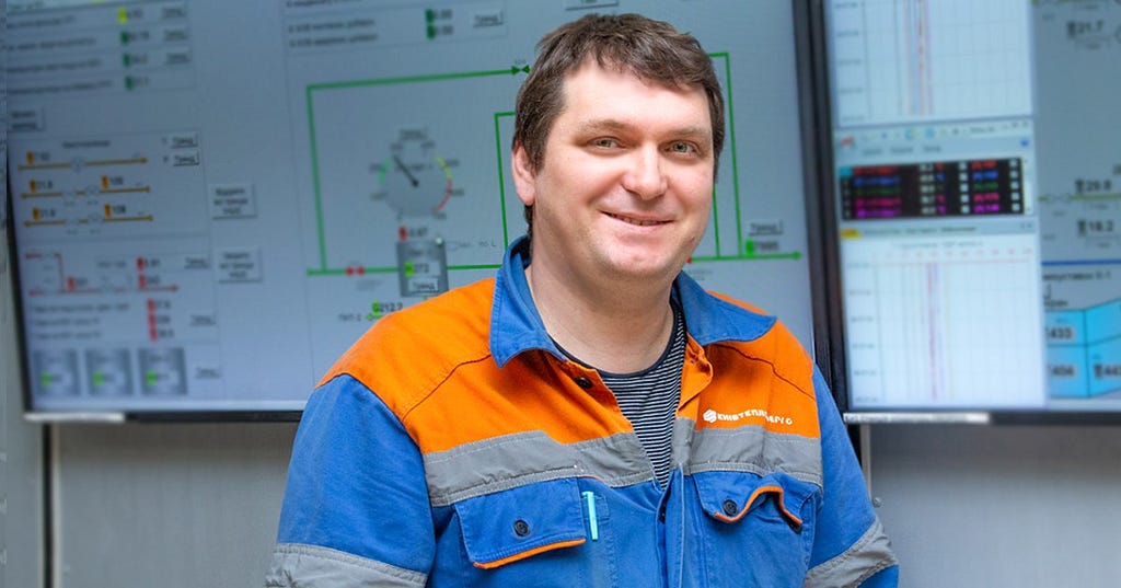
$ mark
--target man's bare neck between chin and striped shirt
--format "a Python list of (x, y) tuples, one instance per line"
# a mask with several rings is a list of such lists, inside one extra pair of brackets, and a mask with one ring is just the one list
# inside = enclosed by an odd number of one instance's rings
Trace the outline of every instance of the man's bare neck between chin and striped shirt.
[(526, 279), (545, 329), (581, 361), (630, 374), (661, 357), (674, 329), (671, 284), (582, 288), (544, 267), (534, 269), (534, 265), (526, 268)]

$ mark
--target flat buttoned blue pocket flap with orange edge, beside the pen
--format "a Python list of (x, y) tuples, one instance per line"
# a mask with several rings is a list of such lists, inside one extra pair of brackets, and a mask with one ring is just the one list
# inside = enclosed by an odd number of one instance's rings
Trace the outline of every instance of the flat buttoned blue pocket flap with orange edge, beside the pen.
[(584, 543), (584, 512), (574, 479), (528, 484), (455, 504), (463, 544), (476, 568), (491, 569)]

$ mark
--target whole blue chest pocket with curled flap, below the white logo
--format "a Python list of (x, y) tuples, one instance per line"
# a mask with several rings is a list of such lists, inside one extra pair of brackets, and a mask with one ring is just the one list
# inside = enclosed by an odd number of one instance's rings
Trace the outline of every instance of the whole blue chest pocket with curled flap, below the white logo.
[(707, 586), (800, 587), (821, 488), (786, 474), (693, 476), (701, 513), (698, 570)]

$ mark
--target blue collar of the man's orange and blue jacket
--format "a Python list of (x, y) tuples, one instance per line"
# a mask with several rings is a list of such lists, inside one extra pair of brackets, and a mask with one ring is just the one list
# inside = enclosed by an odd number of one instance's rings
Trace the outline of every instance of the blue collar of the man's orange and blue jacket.
[[(529, 239), (521, 237), (510, 245), (494, 279), (491, 305), (490, 348), (502, 367), (511, 358), (532, 349), (552, 353), (565, 361), (545, 330), (529, 293), (526, 267), (529, 266)], [(674, 279), (673, 294), (682, 305), (689, 337), (702, 346), (720, 341), (752, 341), (775, 325), (775, 318), (751, 312), (706, 292), (684, 272)]]

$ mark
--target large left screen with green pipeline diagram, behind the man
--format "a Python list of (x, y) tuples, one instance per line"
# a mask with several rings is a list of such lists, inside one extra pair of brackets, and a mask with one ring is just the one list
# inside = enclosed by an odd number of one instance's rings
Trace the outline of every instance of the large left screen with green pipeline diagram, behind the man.
[(293, 412), (389, 313), (494, 274), (540, 36), (640, 11), (710, 52), (728, 128), (686, 270), (812, 346), (790, 2), (9, 0), (28, 410)]

